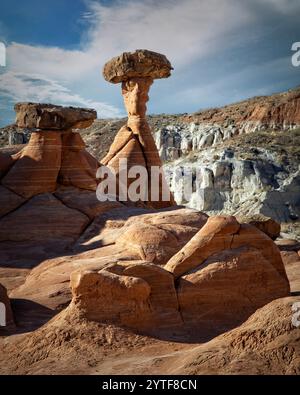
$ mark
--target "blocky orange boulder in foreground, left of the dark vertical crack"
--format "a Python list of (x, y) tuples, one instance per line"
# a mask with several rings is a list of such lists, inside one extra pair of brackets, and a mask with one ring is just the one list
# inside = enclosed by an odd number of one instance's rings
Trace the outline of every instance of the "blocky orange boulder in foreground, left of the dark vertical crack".
[(122, 262), (71, 274), (70, 309), (85, 318), (146, 333), (182, 325), (173, 276), (150, 263)]

